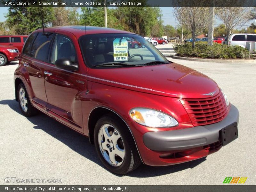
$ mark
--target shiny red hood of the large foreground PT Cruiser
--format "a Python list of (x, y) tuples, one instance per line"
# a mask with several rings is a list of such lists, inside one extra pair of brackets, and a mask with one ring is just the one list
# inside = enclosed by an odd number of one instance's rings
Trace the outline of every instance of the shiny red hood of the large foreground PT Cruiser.
[(177, 98), (207, 98), (219, 93), (218, 85), (208, 76), (177, 63), (131, 68), (88, 70), (88, 81), (139, 92)]

